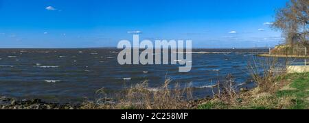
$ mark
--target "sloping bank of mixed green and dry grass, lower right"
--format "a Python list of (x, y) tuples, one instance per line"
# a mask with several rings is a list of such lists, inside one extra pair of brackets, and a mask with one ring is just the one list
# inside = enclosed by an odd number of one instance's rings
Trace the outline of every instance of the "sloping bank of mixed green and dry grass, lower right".
[(282, 75), (272, 86), (271, 91), (242, 92), (231, 102), (214, 98), (197, 109), (309, 109), (309, 72)]

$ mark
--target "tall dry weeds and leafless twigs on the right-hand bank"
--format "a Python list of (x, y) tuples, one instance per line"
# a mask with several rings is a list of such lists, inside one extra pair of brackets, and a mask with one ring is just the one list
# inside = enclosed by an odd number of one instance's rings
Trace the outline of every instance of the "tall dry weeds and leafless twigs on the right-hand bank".
[[(288, 61), (286, 61), (286, 64)], [(290, 81), (282, 79), (284, 71), (277, 58), (249, 62), (249, 71), (258, 85), (249, 92), (237, 92), (233, 86), (233, 77), (229, 75), (225, 83), (218, 81), (218, 93), (212, 100), (204, 102), (198, 109), (286, 109), (294, 105), (293, 96), (277, 97), (276, 92)], [(278, 69), (279, 68), (279, 69)]]

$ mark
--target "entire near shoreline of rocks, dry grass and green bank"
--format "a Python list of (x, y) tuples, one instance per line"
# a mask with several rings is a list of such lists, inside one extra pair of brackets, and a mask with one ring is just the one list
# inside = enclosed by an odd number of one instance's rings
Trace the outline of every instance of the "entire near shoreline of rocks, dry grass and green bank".
[[(53, 104), (41, 100), (15, 100), (13, 98), (0, 98), (1, 109), (309, 109), (309, 72), (285, 74), (267, 82), (267, 87), (259, 86), (254, 90), (242, 90), (240, 93), (233, 91), (222, 92), (212, 99), (186, 100), (183, 96), (172, 96), (164, 90), (156, 93), (155, 98), (148, 100), (142, 98), (146, 94), (155, 94), (144, 90), (145, 85), (137, 85), (129, 90), (128, 95), (135, 96), (141, 103), (122, 100), (116, 103), (84, 102), (80, 105)], [(175, 90), (178, 92), (178, 90)], [(140, 93), (142, 92), (142, 93)], [(178, 92), (181, 94), (181, 92)], [(161, 98), (166, 96), (167, 98)], [(182, 97), (182, 98), (180, 98)], [(148, 98), (150, 99), (150, 98)], [(131, 101), (131, 102), (130, 102)], [(157, 102), (157, 103), (155, 103)], [(161, 103), (159, 103), (161, 102)], [(168, 102), (168, 103), (166, 103)]]

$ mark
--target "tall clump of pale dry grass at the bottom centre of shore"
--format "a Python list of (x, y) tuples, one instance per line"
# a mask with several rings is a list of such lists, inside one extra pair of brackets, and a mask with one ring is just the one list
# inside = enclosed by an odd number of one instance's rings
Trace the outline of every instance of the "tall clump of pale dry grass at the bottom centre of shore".
[(170, 89), (170, 79), (166, 79), (164, 84), (157, 90), (149, 90), (148, 81), (137, 84), (127, 91), (126, 98), (122, 99), (122, 104), (130, 105), (135, 109), (190, 109), (192, 100), (192, 90), (187, 87), (181, 90), (178, 84), (174, 89)]

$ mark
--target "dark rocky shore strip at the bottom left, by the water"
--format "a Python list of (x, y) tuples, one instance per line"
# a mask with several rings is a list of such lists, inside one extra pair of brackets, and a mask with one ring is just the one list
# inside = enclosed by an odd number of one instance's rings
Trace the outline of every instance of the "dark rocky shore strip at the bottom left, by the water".
[(40, 99), (16, 100), (0, 96), (0, 109), (80, 109), (80, 105), (47, 103)]

